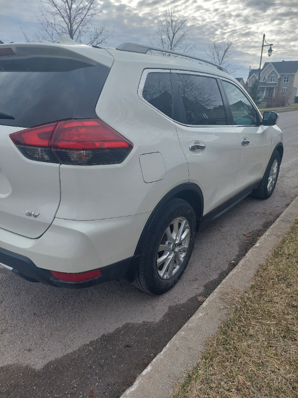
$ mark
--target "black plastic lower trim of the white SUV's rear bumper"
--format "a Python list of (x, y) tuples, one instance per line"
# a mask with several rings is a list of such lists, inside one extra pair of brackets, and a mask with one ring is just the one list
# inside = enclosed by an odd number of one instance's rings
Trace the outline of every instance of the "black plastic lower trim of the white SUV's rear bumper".
[(30, 282), (41, 282), (45, 285), (70, 289), (87, 288), (115, 279), (130, 280), (130, 272), (134, 269), (137, 260), (138, 258), (133, 256), (101, 268), (101, 275), (96, 278), (82, 282), (68, 282), (54, 278), (49, 270), (36, 267), (29, 258), (0, 248), (0, 264), (9, 267), (20, 277)]

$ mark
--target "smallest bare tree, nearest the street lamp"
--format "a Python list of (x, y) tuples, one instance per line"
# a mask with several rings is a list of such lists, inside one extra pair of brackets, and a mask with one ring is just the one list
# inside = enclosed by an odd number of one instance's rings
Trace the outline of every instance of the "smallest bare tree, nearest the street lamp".
[(207, 49), (205, 48), (208, 59), (215, 64), (222, 65), (231, 73), (235, 72), (238, 68), (232, 58), (236, 39), (236, 36), (233, 36), (231, 39), (223, 37), (222, 41), (214, 41), (212, 44), (209, 44)]

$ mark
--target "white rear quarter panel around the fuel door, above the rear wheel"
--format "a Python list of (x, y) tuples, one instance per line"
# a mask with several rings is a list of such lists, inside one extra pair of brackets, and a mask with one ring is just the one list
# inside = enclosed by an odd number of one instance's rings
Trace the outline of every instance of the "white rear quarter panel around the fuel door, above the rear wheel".
[[(57, 217), (95, 220), (152, 211), (167, 192), (189, 181), (175, 123), (138, 97), (142, 71), (143, 65), (115, 62), (96, 106), (99, 118), (133, 143), (132, 152), (117, 165), (62, 165)], [(139, 159), (155, 152), (166, 175), (146, 183)]]

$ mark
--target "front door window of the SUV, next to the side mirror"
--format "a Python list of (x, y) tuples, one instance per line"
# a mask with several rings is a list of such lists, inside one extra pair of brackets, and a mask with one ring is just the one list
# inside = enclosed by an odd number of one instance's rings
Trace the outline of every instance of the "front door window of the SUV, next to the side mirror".
[(258, 123), (257, 111), (244, 96), (244, 94), (233, 84), (222, 81), (227, 99), (230, 103), (233, 124), (255, 125)]

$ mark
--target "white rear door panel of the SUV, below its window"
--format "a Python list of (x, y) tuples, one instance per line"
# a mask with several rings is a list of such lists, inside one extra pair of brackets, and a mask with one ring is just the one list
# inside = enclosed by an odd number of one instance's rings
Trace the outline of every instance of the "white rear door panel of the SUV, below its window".
[[(240, 156), (238, 136), (231, 126), (176, 126), (190, 182), (201, 188), (206, 214), (234, 195)], [(189, 146), (196, 143), (206, 148), (191, 151)]]

